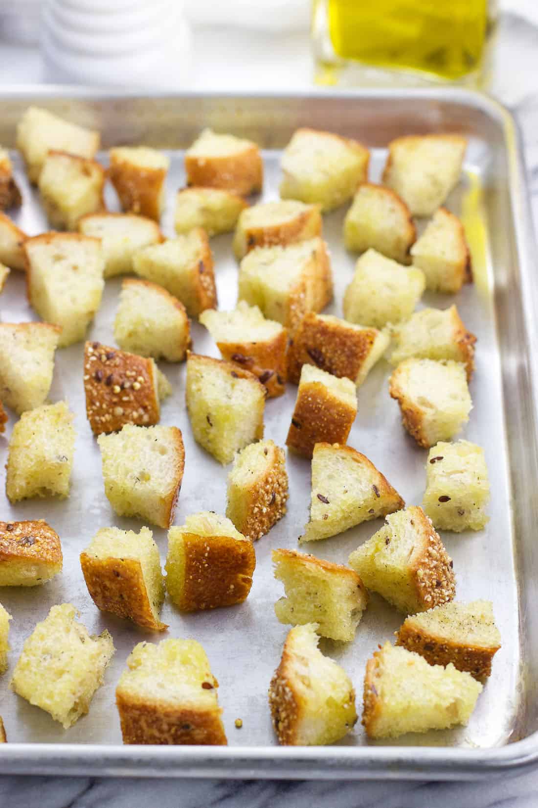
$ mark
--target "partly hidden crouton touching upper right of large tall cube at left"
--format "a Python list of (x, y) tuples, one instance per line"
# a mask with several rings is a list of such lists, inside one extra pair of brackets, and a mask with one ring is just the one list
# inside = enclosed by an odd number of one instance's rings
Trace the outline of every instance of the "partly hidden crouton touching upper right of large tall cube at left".
[(144, 247), (163, 240), (159, 225), (134, 213), (90, 213), (78, 222), (79, 232), (98, 238), (105, 259), (105, 278), (129, 275), (133, 258)]

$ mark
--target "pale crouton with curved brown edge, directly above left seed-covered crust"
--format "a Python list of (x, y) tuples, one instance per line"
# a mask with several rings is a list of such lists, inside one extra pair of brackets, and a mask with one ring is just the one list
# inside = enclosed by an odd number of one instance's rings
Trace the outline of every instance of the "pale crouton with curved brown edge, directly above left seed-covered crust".
[(149, 280), (123, 280), (114, 322), (119, 347), (138, 356), (181, 362), (190, 347), (185, 306)]

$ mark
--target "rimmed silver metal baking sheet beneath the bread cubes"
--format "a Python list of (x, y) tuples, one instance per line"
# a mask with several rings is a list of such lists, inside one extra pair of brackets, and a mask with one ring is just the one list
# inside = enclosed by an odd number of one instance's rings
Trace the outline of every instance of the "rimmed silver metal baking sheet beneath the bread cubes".
[[(14, 89), (2, 94), (0, 143), (13, 146), (15, 123), (29, 103), (51, 108), (71, 120), (102, 132), (103, 145), (145, 143), (169, 151), (168, 207), (165, 235), (173, 235), (173, 196), (185, 183), (182, 151), (198, 131), (211, 126), (253, 137), (264, 148), (264, 200), (277, 198), (280, 150), (300, 125), (326, 128), (357, 137), (372, 148), (371, 177), (380, 176), (391, 138), (415, 132), (464, 132), (469, 137), (465, 170), (448, 208), (465, 223), (475, 283), (457, 296), (427, 293), (421, 306), (444, 308), (457, 303), (465, 325), (478, 335), (476, 373), (471, 383), (473, 411), (461, 436), (486, 449), (492, 501), (490, 524), (483, 532), (444, 534), (457, 574), (457, 598), (486, 598), (494, 604), (503, 648), (478, 701), (469, 726), (447, 732), (409, 735), (390, 744), (368, 743), (357, 724), (338, 745), (310, 749), (278, 748), (269, 721), (267, 688), (277, 666), (287, 627), (273, 613), (282, 587), (273, 579), (271, 549), (297, 547), (307, 521), (310, 464), (287, 456), (290, 507), (268, 536), (256, 543), (256, 572), (248, 600), (212, 612), (181, 615), (167, 600), (164, 636), (196, 638), (207, 651), (219, 680), (219, 701), (229, 747), (123, 747), (115, 710), (115, 684), (136, 642), (158, 641), (160, 635), (106, 615), (94, 607), (85, 590), (78, 555), (102, 526), (140, 528), (138, 520), (115, 517), (102, 488), (97, 444), (85, 420), (81, 381), (82, 347), (58, 351), (50, 398), (66, 398), (75, 412), (77, 448), (71, 495), (67, 501), (30, 500), (10, 507), (2, 502), (2, 518), (44, 518), (60, 534), (64, 572), (44, 587), (4, 589), (2, 604), (13, 615), (10, 669), (0, 682), (0, 714), (10, 743), (0, 748), (0, 771), (28, 773), (94, 773), (156, 776), (229, 777), (480, 777), (487, 772), (523, 765), (536, 755), (536, 665), (538, 637), (532, 608), (538, 559), (536, 525), (536, 398), (530, 346), (535, 344), (532, 311), (536, 292), (530, 262), (532, 233), (515, 124), (496, 103), (460, 90), (375, 91), (338, 95), (129, 97), (69, 87)], [(106, 153), (102, 154), (106, 162)], [(30, 234), (46, 229), (38, 196), (29, 187), (14, 153), (23, 208), (15, 221)], [(111, 209), (118, 209), (107, 191)], [(342, 246), (344, 210), (324, 217), (324, 236), (332, 255), (335, 301), (327, 312), (341, 314), (344, 288), (355, 257)], [(235, 305), (237, 265), (231, 236), (211, 242), (215, 254), (219, 308)], [(102, 307), (90, 338), (114, 344), (112, 326), (121, 279), (106, 283)], [(0, 297), (4, 322), (31, 320), (23, 276), (13, 271)], [(211, 338), (197, 323), (194, 350), (219, 356)], [(186, 473), (176, 524), (200, 510), (224, 512), (227, 469), (219, 466), (190, 433), (184, 398), (185, 366), (161, 364), (173, 384), (162, 408), (161, 423), (181, 427), (186, 444)], [(358, 390), (358, 415), (348, 443), (364, 452), (386, 474), (407, 503), (419, 504), (424, 488), (426, 454), (402, 430), (398, 406), (387, 391), (390, 365), (382, 361)], [(296, 388), (267, 402), (265, 436), (283, 445)], [(9, 437), (13, 419), (6, 436)], [(6, 436), (0, 457), (6, 457)], [(3, 468), (0, 486), (3, 486)], [(343, 536), (305, 546), (307, 552), (336, 562), (370, 537), (381, 521), (367, 523)], [(165, 531), (154, 530), (164, 562)], [(534, 579), (534, 580), (533, 580)], [(94, 696), (90, 713), (63, 730), (40, 709), (10, 692), (8, 682), (23, 641), (35, 623), (56, 603), (70, 601), (81, 611), (91, 632), (108, 628), (117, 648), (105, 684)], [(351, 675), (361, 709), (365, 661), (378, 642), (393, 637), (401, 617), (373, 595), (369, 609), (349, 644), (322, 641), (323, 651)], [(234, 726), (243, 719), (243, 728)]]

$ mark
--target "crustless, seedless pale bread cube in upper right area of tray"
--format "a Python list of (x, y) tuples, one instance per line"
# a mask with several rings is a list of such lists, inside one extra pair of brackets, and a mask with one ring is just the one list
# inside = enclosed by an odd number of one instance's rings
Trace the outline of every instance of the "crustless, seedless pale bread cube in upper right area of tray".
[(426, 286), (415, 267), (367, 250), (355, 265), (355, 274), (344, 293), (344, 318), (361, 326), (383, 328), (407, 320)]

